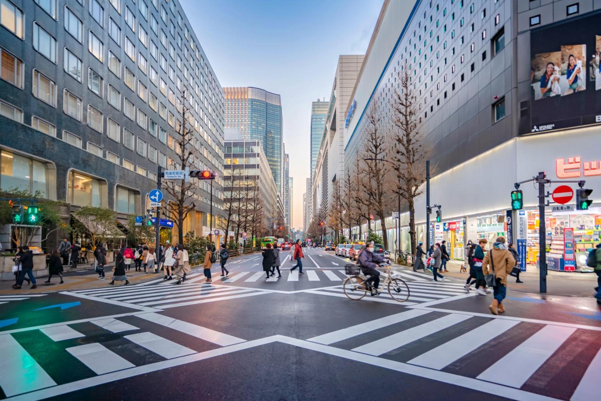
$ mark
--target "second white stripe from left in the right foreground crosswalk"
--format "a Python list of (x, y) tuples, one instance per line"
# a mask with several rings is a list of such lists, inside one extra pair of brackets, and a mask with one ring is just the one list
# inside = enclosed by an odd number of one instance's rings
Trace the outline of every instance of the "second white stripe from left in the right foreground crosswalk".
[(393, 349), (400, 348), (403, 345), (409, 344), (415, 340), (419, 340), (437, 331), (444, 330), (454, 324), (463, 322), (471, 316), (451, 314), (442, 318), (408, 328), (407, 330), (399, 331), (391, 336), (384, 337), (365, 345), (353, 348), (353, 351), (362, 352), (369, 355), (382, 355), (390, 352)]

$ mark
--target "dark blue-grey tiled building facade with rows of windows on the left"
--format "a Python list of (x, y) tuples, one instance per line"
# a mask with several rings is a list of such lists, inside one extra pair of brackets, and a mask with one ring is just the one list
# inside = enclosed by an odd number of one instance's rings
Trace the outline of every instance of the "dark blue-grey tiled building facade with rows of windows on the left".
[[(192, 166), (222, 172), (222, 89), (177, 1), (3, 0), (0, 12), (2, 190), (67, 202), (66, 219), (87, 205), (144, 214), (157, 167), (182, 167), (182, 107)], [(198, 182), (186, 228), (209, 226), (209, 198)]]

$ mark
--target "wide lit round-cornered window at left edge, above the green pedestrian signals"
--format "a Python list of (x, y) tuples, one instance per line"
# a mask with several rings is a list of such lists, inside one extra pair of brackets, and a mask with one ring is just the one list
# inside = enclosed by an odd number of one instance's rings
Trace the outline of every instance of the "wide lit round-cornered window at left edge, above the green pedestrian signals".
[(40, 191), (41, 197), (47, 197), (46, 164), (13, 152), (0, 151), (0, 189), (17, 190), (35, 193)]

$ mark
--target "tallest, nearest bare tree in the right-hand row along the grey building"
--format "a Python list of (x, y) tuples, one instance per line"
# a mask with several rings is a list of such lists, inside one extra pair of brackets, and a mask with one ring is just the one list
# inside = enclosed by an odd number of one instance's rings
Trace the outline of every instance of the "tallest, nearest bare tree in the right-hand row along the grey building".
[(398, 71), (400, 91), (394, 91), (392, 122), (395, 143), (393, 163), (397, 170), (397, 194), (400, 194), (409, 207), (409, 237), (411, 253), (415, 255), (417, 236), (415, 231), (415, 197), (423, 193), (421, 187), (426, 181), (425, 160), (428, 149), (424, 146), (424, 136), (418, 130), (416, 95), (410, 81), (407, 64)]

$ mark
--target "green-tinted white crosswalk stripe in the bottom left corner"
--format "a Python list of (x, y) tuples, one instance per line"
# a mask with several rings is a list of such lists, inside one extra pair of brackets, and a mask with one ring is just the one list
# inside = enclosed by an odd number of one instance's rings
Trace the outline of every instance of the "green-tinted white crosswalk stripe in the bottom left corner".
[(0, 355), (0, 387), (7, 397), (56, 385), (10, 334), (0, 335)]

